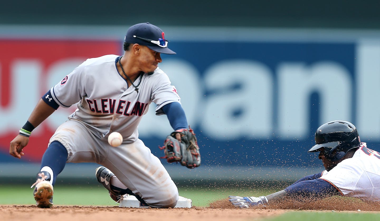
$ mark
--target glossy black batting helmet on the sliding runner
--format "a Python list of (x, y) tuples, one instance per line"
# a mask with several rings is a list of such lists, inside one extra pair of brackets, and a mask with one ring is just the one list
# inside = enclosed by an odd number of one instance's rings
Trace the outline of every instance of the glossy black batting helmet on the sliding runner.
[[(318, 127), (315, 144), (307, 152), (323, 151), (331, 161), (340, 160), (351, 149), (360, 146), (355, 125), (348, 121), (330, 121)], [(321, 149), (323, 147), (323, 149)]]

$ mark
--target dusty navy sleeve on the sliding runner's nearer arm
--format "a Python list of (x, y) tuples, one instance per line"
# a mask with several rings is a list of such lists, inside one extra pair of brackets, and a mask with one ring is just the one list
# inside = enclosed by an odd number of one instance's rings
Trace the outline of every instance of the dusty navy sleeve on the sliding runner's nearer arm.
[(307, 199), (316, 201), (329, 196), (341, 195), (336, 187), (323, 179), (303, 180), (293, 183), (284, 189), (287, 194), (295, 199)]

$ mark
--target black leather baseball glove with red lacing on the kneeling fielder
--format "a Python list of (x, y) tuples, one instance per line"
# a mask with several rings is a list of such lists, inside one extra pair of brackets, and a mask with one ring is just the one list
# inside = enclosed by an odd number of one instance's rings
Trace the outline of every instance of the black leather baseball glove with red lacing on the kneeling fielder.
[[(176, 138), (178, 133), (181, 141)], [(165, 157), (161, 158), (166, 158), (169, 163), (180, 162), (182, 166), (190, 169), (201, 164), (198, 143), (196, 142), (195, 133), (190, 127), (171, 133), (166, 137), (164, 146), (160, 147), (160, 149), (164, 150), (165, 153)]]

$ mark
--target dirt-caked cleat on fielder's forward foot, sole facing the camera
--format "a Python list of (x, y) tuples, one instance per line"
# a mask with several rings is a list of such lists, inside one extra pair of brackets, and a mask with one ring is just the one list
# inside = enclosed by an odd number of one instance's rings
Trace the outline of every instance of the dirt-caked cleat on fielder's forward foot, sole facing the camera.
[(53, 185), (50, 183), (51, 176), (46, 171), (38, 172), (37, 180), (33, 183), (33, 195), (39, 208), (51, 208), (53, 206)]

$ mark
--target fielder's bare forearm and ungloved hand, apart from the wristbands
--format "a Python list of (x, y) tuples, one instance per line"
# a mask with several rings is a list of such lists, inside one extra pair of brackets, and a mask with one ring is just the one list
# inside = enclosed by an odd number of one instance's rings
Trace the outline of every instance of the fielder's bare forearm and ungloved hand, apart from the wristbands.
[[(54, 113), (55, 110), (57, 110), (51, 105), (48, 105), (47, 102), (43, 100), (43, 98), (44, 97), (38, 101), (36, 107), (28, 118), (27, 124), (29, 127), (32, 127), (32, 129), (40, 125), (47, 117), (49, 117), (52, 113)], [(21, 158), (21, 156), (24, 155), (22, 148), (24, 148), (28, 142), (29, 136), (25, 136), (25, 134), (19, 133), (10, 143), (9, 154), (13, 157)]]

